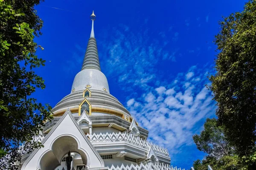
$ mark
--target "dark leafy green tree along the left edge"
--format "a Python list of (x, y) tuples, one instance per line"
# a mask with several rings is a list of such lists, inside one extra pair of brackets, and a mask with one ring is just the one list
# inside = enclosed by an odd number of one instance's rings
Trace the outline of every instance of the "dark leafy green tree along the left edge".
[[(0, 167), (17, 169), (20, 143), (31, 151), (42, 147), (32, 143), (44, 121), (51, 119), (51, 107), (43, 106), (30, 95), (44, 89), (44, 80), (35, 74), (35, 67), (44, 60), (35, 55), (38, 47), (34, 35), (40, 35), (41, 19), (34, 6), (40, 0), (0, 0)], [(11, 153), (11, 154), (10, 154)], [(9, 158), (5, 155), (9, 154)]]

